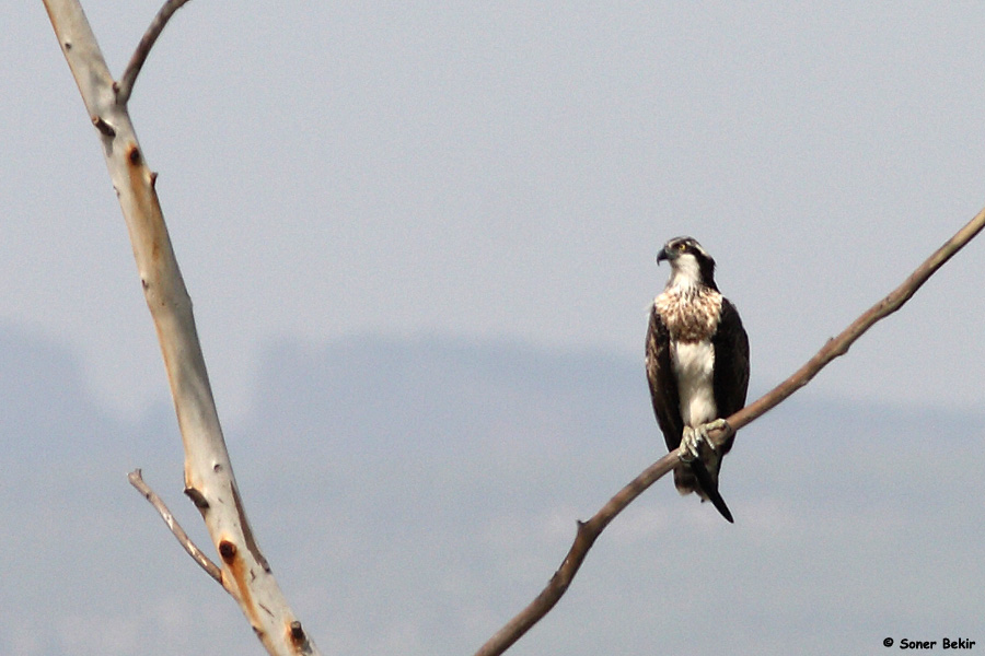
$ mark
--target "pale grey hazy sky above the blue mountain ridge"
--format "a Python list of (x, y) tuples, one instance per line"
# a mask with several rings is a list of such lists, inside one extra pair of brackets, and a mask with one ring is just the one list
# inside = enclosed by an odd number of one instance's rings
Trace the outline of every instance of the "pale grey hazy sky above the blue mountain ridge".
[[(158, 3), (86, 9), (120, 74)], [(139, 411), (166, 387), (97, 140), (39, 3), (0, 19), (0, 320)], [(196, 0), (131, 116), (227, 415), (278, 336), (639, 354), (677, 234), (716, 256), (758, 390), (985, 204), (983, 30), (973, 3)], [(973, 244), (819, 389), (978, 405), (983, 277)]]

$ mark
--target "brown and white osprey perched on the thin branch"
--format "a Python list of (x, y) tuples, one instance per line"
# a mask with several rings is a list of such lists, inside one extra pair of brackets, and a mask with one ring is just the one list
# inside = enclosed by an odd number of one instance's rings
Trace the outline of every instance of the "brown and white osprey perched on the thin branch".
[[(670, 280), (653, 300), (647, 330), (653, 412), (667, 448), (683, 443), (687, 454), (674, 468), (677, 492), (697, 492), (732, 522), (718, 472), (735, 436), (723, 418), (745, 406), (749, 337), (735, 306), (718, 291), (715, 260), (700, 244), (673, 238), (657, 255), (657, 263), (662, 260), (670, 262)], [(708, 443), (711, 430), (730, 433), (719, 449)]]

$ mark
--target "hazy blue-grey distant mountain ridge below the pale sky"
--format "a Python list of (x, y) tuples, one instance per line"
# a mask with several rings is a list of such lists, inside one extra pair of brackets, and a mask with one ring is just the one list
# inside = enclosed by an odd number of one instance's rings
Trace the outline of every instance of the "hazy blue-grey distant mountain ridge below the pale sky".
[[(0, 622), (0, 653), (255, 652), (234, 605), (126, 483), (142, 467), (204, 541), (170, 407), (114, 418), (69, 350), (15, 330), (0, 331), (0, 618), (19, 618)], [(541, 589), (576, 520), (663, 453), (641, 362), (591, 349), (281, 340), (256, 386), (227, 442), (257, 539), (331, 652), (475, 649)], [(868, 653), (939, 626), (974, 639), (982, 419), (804, 389), (728, 456), (734, 526), (658, 481), (518, 653), (654, 641), (725, 653), (737, 640), (762, 654)], [(669, 599), (716, 631), (683, 625)]]

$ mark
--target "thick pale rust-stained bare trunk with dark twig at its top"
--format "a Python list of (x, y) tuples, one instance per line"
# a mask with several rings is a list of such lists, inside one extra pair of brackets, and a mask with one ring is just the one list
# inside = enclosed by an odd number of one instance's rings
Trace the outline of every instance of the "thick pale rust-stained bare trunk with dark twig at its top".
[[(140, 62), (182, 2), (167, 2), (131, 66)], [(192, 300), (167, 234), (154, 174), (147, 164), (126, 102), (106, 67), (79, 0), (45, 0), (51, 26), (96, 129), (123, 210), (144, 301), (158, 331), (185, 449), (185, 489), (219, 552), (223, 588), (236, 600), (267, 653), (315, 655), (250, 528), (222, 436)], [(124, 98), (130, 87), (124, 87)]]

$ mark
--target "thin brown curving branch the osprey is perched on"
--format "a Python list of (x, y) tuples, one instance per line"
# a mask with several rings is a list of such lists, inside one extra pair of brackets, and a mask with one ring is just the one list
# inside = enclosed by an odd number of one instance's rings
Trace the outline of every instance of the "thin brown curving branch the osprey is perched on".
[[(848, 352), (848, 348), (866, 332), (873, 324), (900, 309), (945, 262), (954, 256), (965, 244), (972, 241), (982, 229), (985, 227), (985, 209), (978, 212), (971, 222), (962, 227), (948, 242), (938, 248), (923, 265), (882, 301), (866, 311), (848, 328), (837, 337), (830, 339), (827, 343), (811, 358), (807, 364), (800, 367), (792, 376), (777, 385), (774, 389), (763, 395), (758, 400), (750, 403), (739, 412), (728, 418), (729, 425), (733, 430), (750, 424), (772, 410), (795, 391), (807, 385), (818, 372), (827, 363)], [(721, 443), (725, 432), (718, 431), (709, 437)], [(680, 460), (680, 449), (673, 450), (650, 465), (642, 473), (623, 488), (602, 509), (588, 522), (578, 523), (578, 534), (575, 543), (561, 562), (560, 567), (551, 577), (551, 581), (530, 605), (520, 611), (512, 620), (507, 622), (486, 644), (479, 647), (475, 656), (498, 656), (506, 652), (520, 637), (536, 624), (541, 618), (547, 614), (555, 604), (567, 591), (571, 579), (578, 573), (578, 569), (588, 555), (595, 539), (605, 529), (616, 515), (639, 496), (647, 488), (672, 470)]]

